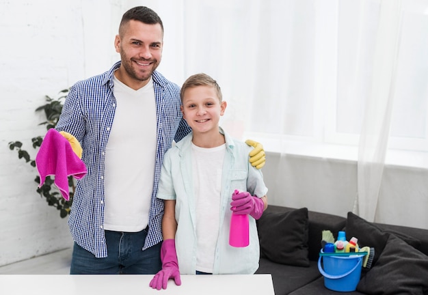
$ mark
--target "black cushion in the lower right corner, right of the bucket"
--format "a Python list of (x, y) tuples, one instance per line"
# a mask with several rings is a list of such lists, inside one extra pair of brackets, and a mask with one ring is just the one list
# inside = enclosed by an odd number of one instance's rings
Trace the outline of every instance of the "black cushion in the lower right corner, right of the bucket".
[(358, 283), (366, 294), (428, 294), (428, 256), (390, 234), (384, 251)]

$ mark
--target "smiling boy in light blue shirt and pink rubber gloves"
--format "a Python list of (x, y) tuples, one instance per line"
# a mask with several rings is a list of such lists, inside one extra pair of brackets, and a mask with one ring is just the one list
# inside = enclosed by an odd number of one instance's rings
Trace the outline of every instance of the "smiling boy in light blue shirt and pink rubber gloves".
[[(267, 208), (263, 174), (248, 162), (248, 145), (219, 127), (227, 104), (216, 81), (206, 74), (190, 76), (180, 97), (192, 131), (163, 160), (157, 195), (165, 199), (162, 270), (150, 282), (157, 290), (166, 289), (171, 278), (180, 285), (180, 273), (254, 273), (259, 259), (256, 219)], [(241, 193), (235, 195), (235, 190)], [(248, 247), (228, 244), (232, 214), (250, 214)]]

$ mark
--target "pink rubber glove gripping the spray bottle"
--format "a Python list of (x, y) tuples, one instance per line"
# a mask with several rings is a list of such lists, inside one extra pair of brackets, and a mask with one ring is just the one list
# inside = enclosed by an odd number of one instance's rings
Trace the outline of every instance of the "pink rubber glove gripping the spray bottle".
[(248, 192), (235, 191), (232, 195), (232, 203), (230, 210), (233, 214), (250, 214), (254, 219), (260, 219), (265, 208), (265, 203), (258, 197), (253, 197)]

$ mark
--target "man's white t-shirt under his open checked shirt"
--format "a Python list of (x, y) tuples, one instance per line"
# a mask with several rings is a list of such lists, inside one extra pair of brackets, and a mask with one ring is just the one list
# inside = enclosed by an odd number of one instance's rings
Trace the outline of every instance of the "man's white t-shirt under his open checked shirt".
[(114, 78), (116, 111), (105, 150), (104, 229), (137, 232), (148, 225), (157, 147), (153, 81), (134, 90)]

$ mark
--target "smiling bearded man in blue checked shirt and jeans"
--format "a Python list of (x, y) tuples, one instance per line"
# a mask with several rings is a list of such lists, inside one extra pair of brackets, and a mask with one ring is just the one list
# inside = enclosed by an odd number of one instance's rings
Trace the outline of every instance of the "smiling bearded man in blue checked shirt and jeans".
[[(190, 132), (180, 89), (156, 71), (163, 24), (150, 8), (125, 12), (121, 61), (70, 88), (56, 129), (82, 145), (88, 173), (77, 183), (68, 224), (70, 274), (155, 274), (161, 269), (163, 154)], [(250, 161), (262, 167), (263, 149)]]

